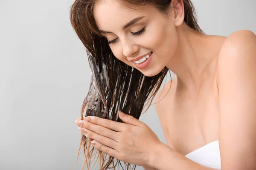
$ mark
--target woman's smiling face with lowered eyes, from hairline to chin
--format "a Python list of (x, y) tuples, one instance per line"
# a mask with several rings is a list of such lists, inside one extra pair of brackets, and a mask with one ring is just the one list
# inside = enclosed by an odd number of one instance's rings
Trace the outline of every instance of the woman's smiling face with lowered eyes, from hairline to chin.
[[(95, 5), (94, 18), (115, 57), (145, 76), (160, 73), (177, 48), (174, 15), (162, 14), (154, 6), (137, 10), (117, 0), (102, 0)], [(131, 61), (143, 56), (140, 64)]]

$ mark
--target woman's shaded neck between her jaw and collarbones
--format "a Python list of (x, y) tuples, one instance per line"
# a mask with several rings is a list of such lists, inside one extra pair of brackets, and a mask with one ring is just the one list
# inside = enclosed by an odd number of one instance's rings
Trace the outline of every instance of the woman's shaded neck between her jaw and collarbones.
[(211, 59), (207, 57), (207, 35), (198, 33), (186, 24), (177, 27), (177, 34), (177, 49), (166, 67), (176, 74), (177, 88), (197, 93)]

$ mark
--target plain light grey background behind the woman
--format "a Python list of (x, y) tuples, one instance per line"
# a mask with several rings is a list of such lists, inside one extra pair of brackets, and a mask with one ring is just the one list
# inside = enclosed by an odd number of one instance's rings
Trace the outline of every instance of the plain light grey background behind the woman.
[[(70, 25), (72, 3), (0, 0), (0, 170), (74, 166), (80, 142), (74, 121), (89, 87), (90, 69)], [(256, 1), (193, 3), (207, 34), (256, 32)], [(166, 143), (154, 105), (140, 120)], [(76, 170), (83, 160), (81, 155)]]

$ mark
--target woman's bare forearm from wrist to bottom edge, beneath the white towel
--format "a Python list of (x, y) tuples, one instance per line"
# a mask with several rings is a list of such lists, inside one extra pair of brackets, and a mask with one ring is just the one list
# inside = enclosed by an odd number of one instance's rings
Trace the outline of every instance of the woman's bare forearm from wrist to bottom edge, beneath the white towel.
[(160, 145), (149, 160), (148, 166), (157, 170), (216, 170), (186, 158), (166, 144)]

